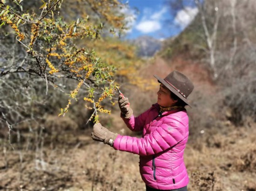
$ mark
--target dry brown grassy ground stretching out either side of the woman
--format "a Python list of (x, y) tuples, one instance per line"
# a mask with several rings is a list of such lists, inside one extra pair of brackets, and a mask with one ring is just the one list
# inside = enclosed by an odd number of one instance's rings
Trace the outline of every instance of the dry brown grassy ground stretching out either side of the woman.
[[(223, 124), (222, 134), (205, 131), (190, 138), (184, 156), (189, 191), (256, 191), (255, 127)], [(66, 131), (36, 150), (23, 142), (23, 149), (14, 143), (13, 151), (1, 139), (0, 190), (144, 191), (139, 157), (94, 142), (89, 134)]]

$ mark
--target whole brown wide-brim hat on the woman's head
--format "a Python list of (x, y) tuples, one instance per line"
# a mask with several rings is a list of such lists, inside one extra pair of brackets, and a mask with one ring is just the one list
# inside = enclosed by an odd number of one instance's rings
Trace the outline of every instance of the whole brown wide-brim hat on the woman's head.
[(164, 79), (160, 78), (157, 75), (154, 75), (154, 77), (158, 79), (160, 83), (166, 86), (176, 96), (182, 99), (182, 101), (189, 105), (187, 98), (189, 94), (193, 91), (194, 85), (187, 76), (185, 76), (181, 72), (173, 71), (169, 73), (168, 76), (166, 76)]

